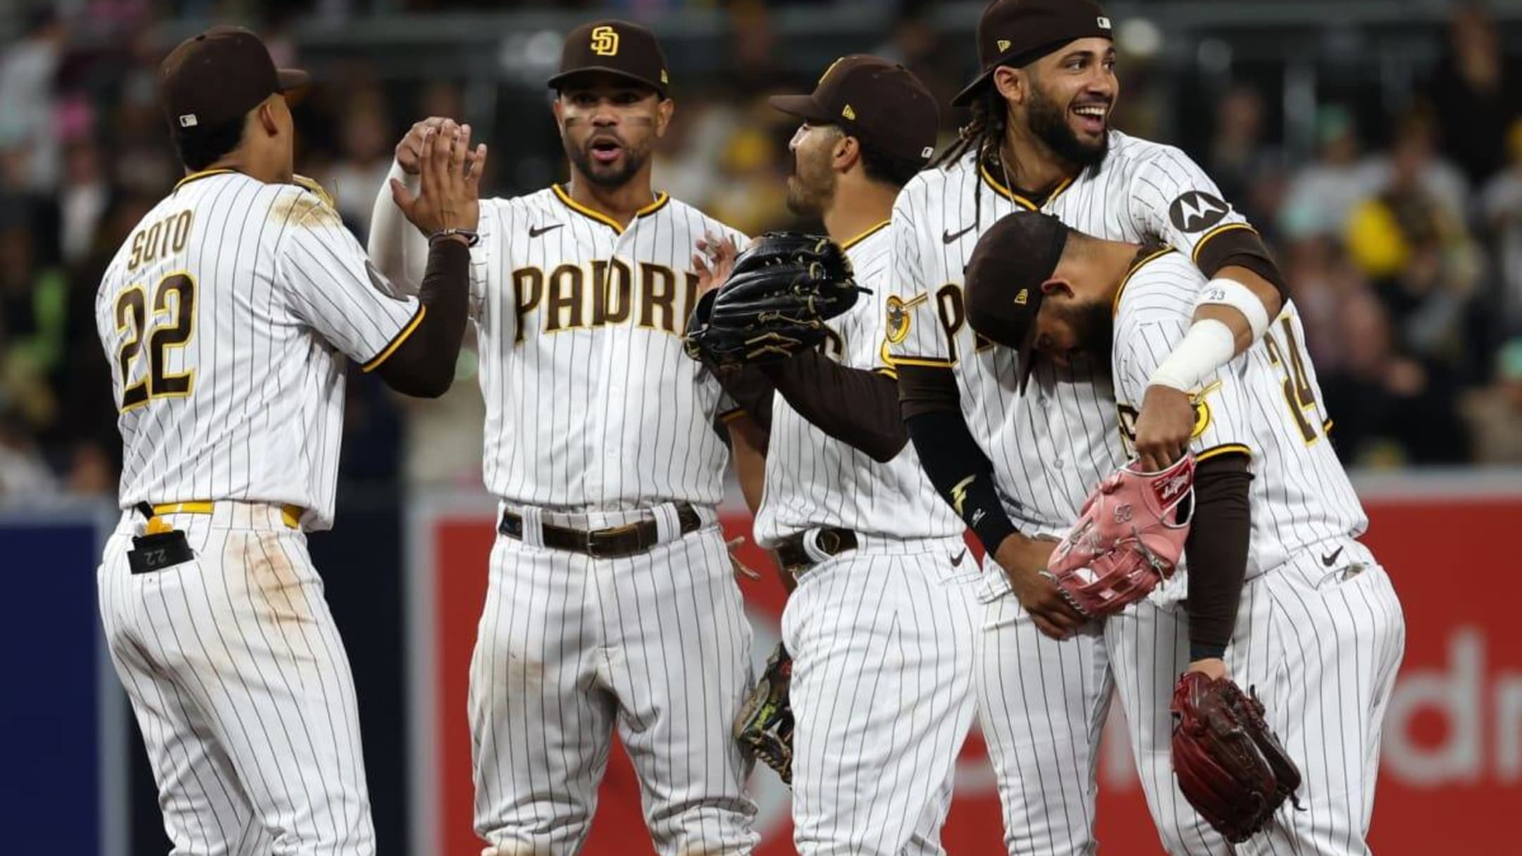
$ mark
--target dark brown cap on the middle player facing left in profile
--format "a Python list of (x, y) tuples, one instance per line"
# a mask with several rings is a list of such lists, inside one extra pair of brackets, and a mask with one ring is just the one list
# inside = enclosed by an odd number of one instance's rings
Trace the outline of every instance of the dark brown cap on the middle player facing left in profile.
[(925, 161), (936, 151), (935, 96), (909, 69), (877, 56), (842, 56), (825, 69), (813, 94), (778, 94), (770, 102), (805, 122), (839, 125), (895, 157)]

